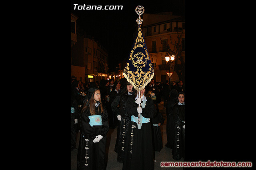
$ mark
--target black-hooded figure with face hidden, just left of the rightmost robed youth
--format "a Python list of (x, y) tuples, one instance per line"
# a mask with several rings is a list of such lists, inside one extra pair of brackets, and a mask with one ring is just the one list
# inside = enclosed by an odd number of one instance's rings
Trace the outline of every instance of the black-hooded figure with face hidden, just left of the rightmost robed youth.
[(167, 100), (166, 103), (166, 137), (167, 143), (164, 145), (170, 149), (173, 149), (173, 139), (174, 139), (174, 119), (172, 114), (172, 107), (177, 102), (177, 94), (178, 91), (176, 89), (172, 89), (169, 93), (170, 100)]

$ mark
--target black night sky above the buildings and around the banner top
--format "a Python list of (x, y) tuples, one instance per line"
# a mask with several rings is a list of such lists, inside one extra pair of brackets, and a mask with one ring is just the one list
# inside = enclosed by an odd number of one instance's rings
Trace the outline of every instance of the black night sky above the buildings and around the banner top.
[[(106, 5), (122, 5), (123, 8), (122, 10), (78, 10), (76, 7), (74, 10), (74, 4), (101, 5), (102, 8)], [(138, 27), (136, 19), (139, 16), (135, 8), (139, 5), (144, 7), (144, 13), (173, 12), (173, 15), (185, 16), (184, 0), (170, 0), (158, 4), (150, 1), (71, 0), (71, 13), (78, 16), (78, 27), (85, 31), (87, 36), (93, 36), (108, 51), (109, 71), (114, 71), (118, 63), (128, 59), (134, 41), (133, 33)]]

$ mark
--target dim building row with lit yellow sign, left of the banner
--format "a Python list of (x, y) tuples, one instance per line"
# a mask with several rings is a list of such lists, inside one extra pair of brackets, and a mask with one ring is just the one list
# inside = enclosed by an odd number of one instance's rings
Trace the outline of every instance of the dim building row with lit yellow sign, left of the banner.
[(82, 82), (108, 79), (108, 53), (94, 38), (76, 30), (76, 43), (71, 47), (71, 76)]

